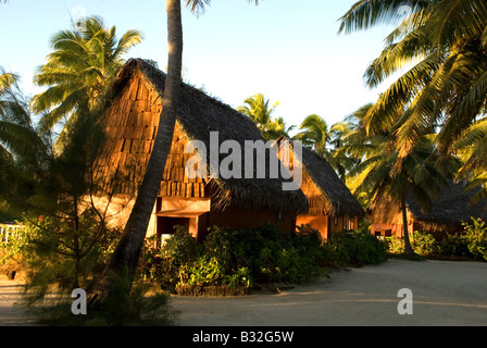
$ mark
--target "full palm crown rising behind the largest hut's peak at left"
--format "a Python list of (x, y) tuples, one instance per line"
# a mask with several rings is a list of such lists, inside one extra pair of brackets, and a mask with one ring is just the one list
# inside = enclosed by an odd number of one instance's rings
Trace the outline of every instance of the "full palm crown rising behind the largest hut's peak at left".
[(97, 17), (86, 18), (83, 32), (57, 33), (51, 39), (53, 52), (34, 77), (37, 86), (48, 87), (33, 98), (33, 111), (42, 113), (41, 128), (51, 129), (63, 120), (70, 125), (101, 105), (123, 55), (141, 39), (137, 30), (117, 39), (116, 27), (108, 28)]

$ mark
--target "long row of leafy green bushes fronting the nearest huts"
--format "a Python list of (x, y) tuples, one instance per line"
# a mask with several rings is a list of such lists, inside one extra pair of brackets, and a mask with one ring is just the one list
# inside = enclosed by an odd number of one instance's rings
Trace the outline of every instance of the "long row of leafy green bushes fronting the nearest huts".
[(239, 291), (276, 282), (302, 284), (326, 274), (330, 265), (379, 263), (386, 258), (384, 243), (367, 232), (340, 233), (325, 243), (310, 226), (294, 234), (271, 224), (251, 229), (214, 226), (198, 245), (177, 228), (162, 250), (146, 251), (145, 259), (151, 261), (145, 274), (178, 293), (197, 295), (207, 287), (213, 294), (218, 286)]

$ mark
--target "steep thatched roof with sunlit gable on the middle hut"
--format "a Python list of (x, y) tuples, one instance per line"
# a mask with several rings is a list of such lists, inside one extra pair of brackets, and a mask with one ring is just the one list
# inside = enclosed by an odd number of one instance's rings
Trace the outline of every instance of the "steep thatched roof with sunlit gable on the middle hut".
[[(276, 142), (287, 145), (292, 142), (280, 137)], [(339, 178), (325, 158), (315, 151), (302, 147), (301, 165), (303, 179), (309, 176), (312, 183), (303, 182), (303, 191), (310, 201), (310, 214), (363, 216), (365, 211), (350, 192), (350, 189)], [(310, 184), (312, 187), (310, 187)], [(316, 194), (319, 197), (316, 197)]]

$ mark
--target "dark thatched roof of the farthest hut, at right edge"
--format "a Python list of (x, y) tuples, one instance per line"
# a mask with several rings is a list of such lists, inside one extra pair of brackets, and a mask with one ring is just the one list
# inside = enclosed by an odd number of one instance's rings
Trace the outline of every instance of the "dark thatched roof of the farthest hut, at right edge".
[(408, 197), (408, 208), (414, 216), (414, 221), (423, 225), (424, 229), (432, 229), (441, 226), (453, 228), (461, 227), (462, 222), (469, 222), (471, 217), (487, 221), (487, 201), (471, 204), (472, 197), (477, 190), (465, 192), (466, 182), (458, 184), (450, 182), (449, 187), (441, 191), (441, 195), (432, 202), (429, 211), (424, 211), (416, 200)]

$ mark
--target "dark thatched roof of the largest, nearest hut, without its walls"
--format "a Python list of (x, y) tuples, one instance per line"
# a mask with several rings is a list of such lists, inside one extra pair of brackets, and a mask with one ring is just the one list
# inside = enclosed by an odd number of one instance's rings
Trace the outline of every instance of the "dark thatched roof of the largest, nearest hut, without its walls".
[[(145, 76), (151, 88), (162, 99), (166, 75), (141, 59), (130, 59), (122, 69), (114, 84), (113, 101), (127, 87), (130, 78), (137, 72)], [(180, 105), (176, 122), (188, 139), (203, 141), (208, 151), (210, 150), (210, 132), (218, 132), (220, 144), (232, 139), (238, 141), (242, 149), (246, 140), (264, 141), (249, 117), (187, 84), (182, 85)], [(226, 156), (221, 154), (221, 160)], [(210, 156), (207, 156), (207, 159), (209, 161)], [(208, 164), (210, 165), (210, 162)], [(276, 211), (305, 210), (308, 201), (303, 192), (301, 190), (283, 191), (282, 184), (283, 181), (279, 178), (222, 177), (208, 183), (214, 192), (214, 203), (221, 208), (232, 206), (257, 210), (266, 208)]]

